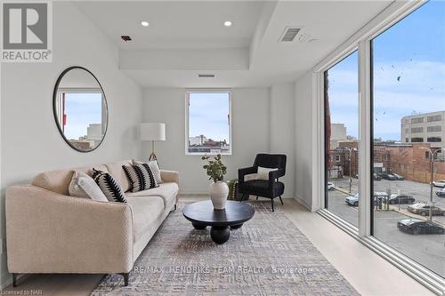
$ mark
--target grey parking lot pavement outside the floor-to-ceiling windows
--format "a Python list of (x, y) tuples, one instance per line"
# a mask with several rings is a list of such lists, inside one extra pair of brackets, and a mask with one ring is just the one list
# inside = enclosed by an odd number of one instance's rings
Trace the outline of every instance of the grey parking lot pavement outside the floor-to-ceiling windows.
[[(344, 202), (349, 195), (349, 178), (331, 180), (336, 185), (336, 190), (328, 191), (328, 210), (336, 213), (353, 225), (358, 225), (358, 207)], [(357, 179), (352, 179), (352, 193), (357, 193)], [(410, 180), (379, 180), (374, 181), (375, 191), (401, 193), (416, 198), (416, 202), (427, 202), (430, 196), (428, 184), (413, 182)], [(389, 190), (391, 191), (389, 191)], [(433, 201), (436, 206), (445, 208), (445, 198), (435, 195), (433, 189)], [(400, 190), (400, 192), (399, 192)], [(390, 211), (374, 212), (374, 236), (385, 244), (404, 253), (413, 260), (417, 260), (426, 268), (432, 269), (441, 276), (445, 276), (445, 235), (419, 235), (413, 236), (401, 232), (397, 228), (397, 221), (410, 217), (427, 219), (420, 215), (407, 212), (408, 204), (390, 205)], [(445, 216), (433, 216), (433, 221), (445, 226)]]

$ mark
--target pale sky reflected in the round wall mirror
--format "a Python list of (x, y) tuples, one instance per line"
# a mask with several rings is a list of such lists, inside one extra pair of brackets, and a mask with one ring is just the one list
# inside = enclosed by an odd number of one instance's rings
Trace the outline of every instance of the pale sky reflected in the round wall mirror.
[(65, 137), (78, 140), (86, 135), (89, 124), (101, 124), (101, 93), (67, 92), (65, 95)]

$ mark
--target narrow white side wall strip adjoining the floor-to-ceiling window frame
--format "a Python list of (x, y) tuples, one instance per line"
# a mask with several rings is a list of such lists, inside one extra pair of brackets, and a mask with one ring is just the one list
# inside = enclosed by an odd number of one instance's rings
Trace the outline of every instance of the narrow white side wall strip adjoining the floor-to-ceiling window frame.
[(312, 210), (312, 73), (310, 72), (295, 83), (295, 199)]

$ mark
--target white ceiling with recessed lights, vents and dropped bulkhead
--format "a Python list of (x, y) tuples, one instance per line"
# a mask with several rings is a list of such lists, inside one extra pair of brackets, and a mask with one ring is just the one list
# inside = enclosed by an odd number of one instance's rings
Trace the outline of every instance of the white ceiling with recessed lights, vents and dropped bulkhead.
[[(77, 2), (146, 87), (255, 87), (293, 81), (392, 1)], [(150, 22), (142, 28), (141, 20)], [(231, 28), (223, 27), (231, 20)], [(312, 42), (279, 43), (287, 26)], [(121, 35), (134, 39), (124, 43)], [(215, 74), (198, 78), (198, 73)]]

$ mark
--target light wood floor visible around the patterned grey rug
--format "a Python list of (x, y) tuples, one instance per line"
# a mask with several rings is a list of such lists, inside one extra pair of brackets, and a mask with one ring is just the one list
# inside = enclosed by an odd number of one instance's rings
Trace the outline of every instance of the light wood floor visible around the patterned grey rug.
[[(181, 196), (181, 200), (194, 201), (204, 196)], [(362, 295), (433, 295), (423, 285), (405, 275), (360, 244), (351, 236), (322, 218), (307, 211), (295, 200), (284, 200), (280, 207), (305, 236), (311, 240), (332, 265)], [(279, 227), (279, 226), (277, 226)], [(88, 295), (103, 275), (32, 275), (22, 276), (13, 288), (5, 291), (41, 290), (43, 295)]]

